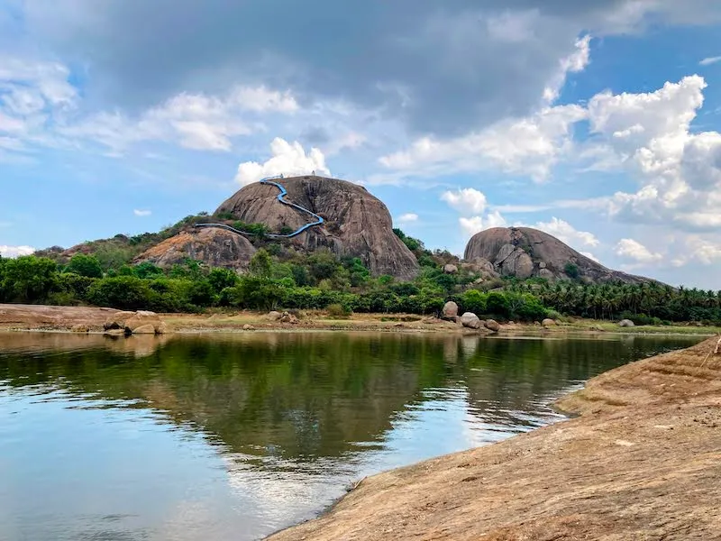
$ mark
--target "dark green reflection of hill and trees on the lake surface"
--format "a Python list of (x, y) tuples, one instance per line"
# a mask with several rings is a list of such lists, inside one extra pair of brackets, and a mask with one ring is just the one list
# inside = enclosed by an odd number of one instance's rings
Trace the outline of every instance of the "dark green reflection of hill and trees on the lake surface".
[(398, 413), (425, 399), (424, 390), (466, 387), (471, 415), (518, 425), (539, 397), (664, 344), (680, 345), (663, 338), (625, 344), (263, 333), (178, 336), (142, 345), (137, 357), (131, 342), (67, 338), (66, 353), (0, 355), (0, 381), (130, 400), (123, 407), (154, 408), (233, 453), (297, 461), (380, 443)]

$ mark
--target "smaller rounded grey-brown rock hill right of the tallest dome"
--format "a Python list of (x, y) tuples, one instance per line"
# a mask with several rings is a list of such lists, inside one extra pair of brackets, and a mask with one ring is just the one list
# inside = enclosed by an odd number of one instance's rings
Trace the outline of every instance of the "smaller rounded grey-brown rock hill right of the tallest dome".
[(568, 274), (570, 263), (578, 269), (578, 278), (587, 282), (650, 281), (607, 269), (556, 237), (530, 227), (494, 227), (481, 231), (470, 239), (464, 257), (466, 261), (489, 261), (497, 273), (520, 279), (532, 276), (548, 280), (576, 278)]

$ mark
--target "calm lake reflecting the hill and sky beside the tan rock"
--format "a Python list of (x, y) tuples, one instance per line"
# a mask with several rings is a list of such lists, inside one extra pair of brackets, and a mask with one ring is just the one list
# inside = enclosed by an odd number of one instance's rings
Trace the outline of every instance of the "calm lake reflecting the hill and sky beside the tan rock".
[(697, 338), (0, 334), (0, 539), (257, 539)]

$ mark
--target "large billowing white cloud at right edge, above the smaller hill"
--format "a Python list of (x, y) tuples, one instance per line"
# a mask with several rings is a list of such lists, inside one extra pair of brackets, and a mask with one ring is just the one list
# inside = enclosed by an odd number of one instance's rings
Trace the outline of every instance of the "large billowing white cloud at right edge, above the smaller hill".
[(689, 229), (721, 225), (721, 133), (691, 128), (706, 87), (695, 75), (654, 92), (603, 92), (590, 100), (592, 132), (605, 138), (641, 185), (636, 192), (616, 193), (613, 215)]

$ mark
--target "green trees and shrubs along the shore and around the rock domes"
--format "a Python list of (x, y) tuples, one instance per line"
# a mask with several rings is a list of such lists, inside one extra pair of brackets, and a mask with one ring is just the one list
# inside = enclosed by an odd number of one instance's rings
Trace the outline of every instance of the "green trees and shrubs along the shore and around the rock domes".
[[(167, 238), (207, 219), (207, 215), (188, 216), (156, 236)], [(464, 265), (457, 273), (447, 274), (443, 265), (457, 263), (457, 258), (449, 252), (431, 252), (400, 230), (394, 232), (414, 252), (421, 265), (419, 276), (412, 281), (374, 278), (358, 258), (338, 259), (324, 251), (296, 252), (287, 243), (269, 241), (254, 225), (242, 226), (253, 231), (253, 243), (260, 247), (250, 271), (243, 275), (210, 269), (198, 261), (167, 270), (149, 262), (132, 265), (132, 257), (125, 251), (147, 246), (152, 235), (116, 237), (95, 246), (84, 244), (96, 252), (78, 251), (68, 261), (42, 257), (42, 253), (0, 259), (0, 302), (90, 304), (160, 312), (205, 307), (326, 308), (334, 316), (347, 316), (351, 312), (439, 314), (443, 304), (453, 300), (461, 313), (470, 311), (499, 320), (537, 321), (565, 315), (629, 318), (637, 325), (721, 324), (721, 291), (674, 289), (653, 281), (588, 285), (580, 280), (480, 280), (472, 267)], [(566, 272), (573, 275), (570, 267)]]

